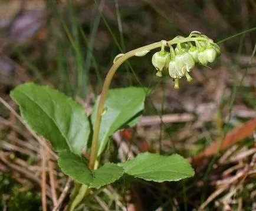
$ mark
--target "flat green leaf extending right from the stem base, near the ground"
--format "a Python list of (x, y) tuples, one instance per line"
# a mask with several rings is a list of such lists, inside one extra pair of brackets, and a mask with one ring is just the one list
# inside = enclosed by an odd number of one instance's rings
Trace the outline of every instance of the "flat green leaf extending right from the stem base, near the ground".
[(141, 153), (133, 160), (119, 163), (127, 175), (155, 182), (177, 181), (195, 174), (188, 160), (174, 154), (163, 156), (153, 153)]

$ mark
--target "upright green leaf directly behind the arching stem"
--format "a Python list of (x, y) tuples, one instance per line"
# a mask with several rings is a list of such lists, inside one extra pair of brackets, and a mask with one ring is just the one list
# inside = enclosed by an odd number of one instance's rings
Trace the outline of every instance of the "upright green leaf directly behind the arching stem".
[[(119, 129), (133, 126), (139, 121), (144, 109), (145, 90), (143, 88), (129, 87), (110, 89), (107, 93), (104, 105), (106, 113), (101, 118), (98, 156), (106, 148), (109, 136)], [(93, 126), (96, 121), (98, 105), (99, 97), (91, 115)]]

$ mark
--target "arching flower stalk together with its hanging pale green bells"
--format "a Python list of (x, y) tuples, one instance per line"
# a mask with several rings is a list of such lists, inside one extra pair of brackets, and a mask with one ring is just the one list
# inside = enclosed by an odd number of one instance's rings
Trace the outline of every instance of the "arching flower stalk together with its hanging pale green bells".
[[(193, 68), (193, 66), (195, 65), (195, 62), (197, 62), (195, 61), (195, 59), (193, 59), (195, 55), (189, 54), (188, 48), (191, 48), (192, 42), (195, 42), (195, 43), (201, 42), (201, 43), (204, 43), (205, 45), (212, 45), (212, 49), (216, 49), (215, 55), (219, 55), (219, 52), (217, 52), (219, 51), (218, 45), (216, 46), (216, 44), (212, 41), (212, 39), (209, 39), (205, 35), (199, 34), (199, 32), (191, 32), (191, 34), (187, 38), (183, 38), (182, 36), (176, 36), (176, 38), (173, 38), (170, 41), (155, 42), (150, 45), (146, 45), (141, 48), (134, 49), (127, 53), (120, 54), (114, 59), (114, 63), (111, 66), (110, 71), (107, 73), (106, 79), (104, 81), (102, 92), (100, 95), (99, 106), (97, 109), (96, 123), (94, 126), (93, 140), (91, 144), (90, 162), (88, 166), (91, 170), (98, 168), (98, 165), (96, 165), (96, 161), (98, 156), (97, 148), (99, 143), (101, 116), (103, 114), (104, 103), (107, 98), (107, 91), (109, 91), (110, 83), (113, 79), (114, 73), (116, 73), (119, 66), (122, 65), (123, 62), (125, 62), (127, 59), (131, 58), (132, 56), (144, 56), (146, 55), (147, 52), (151, 51), (152, 49), (161, 48), (161, 51), (157, 52), (157, 56), (155, 56), (155, 59), (152, 58), (152, 63), (157, 70), (156, 75), (162, 76), (162, 71), (164, 72), (165, 68), (169, 68), (169, 74), (173, 79), (175, 79), (175, 88), (178, 89), (179, 79), (182, 78), (182, 76), (186, 76), (187, 81), (192, 81), (192, 78), (188, 72), (190, 71), (190, 69)], [(180, 56), (179, 59), (175, 59), (176, 55), (172, 45), (178, 46), (179, 55), (177, 56)], [(200, 48), (202, 48), (201, 44), (199, 45), (200, 45)], [(165, 51), (165, 46), (166, 47), (169, 46), (170, 52)], [(196, 48), (196, 46), (193, 46), (193, 47)], [(192, 50), (195, 51), (195, 49), (192, 49)], [(210, 58), (212, 56), (211, 59), (208, 59), (208, 62), (209, 60), (212, 61), (213, 60), (212, 58), (216, 57), (215, 55), (209, 55), (209, 52), (208, 52), (207, 57)]]

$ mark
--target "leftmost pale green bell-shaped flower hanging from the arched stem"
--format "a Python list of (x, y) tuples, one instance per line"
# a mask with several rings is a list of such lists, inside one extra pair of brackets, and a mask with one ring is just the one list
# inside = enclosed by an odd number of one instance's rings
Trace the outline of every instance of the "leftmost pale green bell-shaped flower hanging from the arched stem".
[(162, 71), (163, 68), (168, 68), (168, 64), (170, 61), (170, 53), (166, 51), (156, 52), (152, 56), (152, 64), (155, 66), (157, 71)]

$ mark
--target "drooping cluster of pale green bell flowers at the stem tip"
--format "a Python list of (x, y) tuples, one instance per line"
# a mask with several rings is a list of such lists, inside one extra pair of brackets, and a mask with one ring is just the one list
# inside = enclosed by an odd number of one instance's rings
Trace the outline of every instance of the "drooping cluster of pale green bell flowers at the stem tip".
[[(212, 39), (197, 31), (191, 32), (187, 38), (177, 36), (173, 39), (175, 48), (166, 41), (162, 43), (162, 49), (153, 55), (152, 63), (157, 70), (157, 76), (162, 77), (162, 72), (169, 72), (175, 81), (175, 89), (179, 88), (179, 79), (183, 76), (187, 81), (192, 81), (189, 72), (195, 63), (206, 66), (221, 54), (219, 46)], [(166, 46), (170, 48), (169, 52), (165, 50)]]

